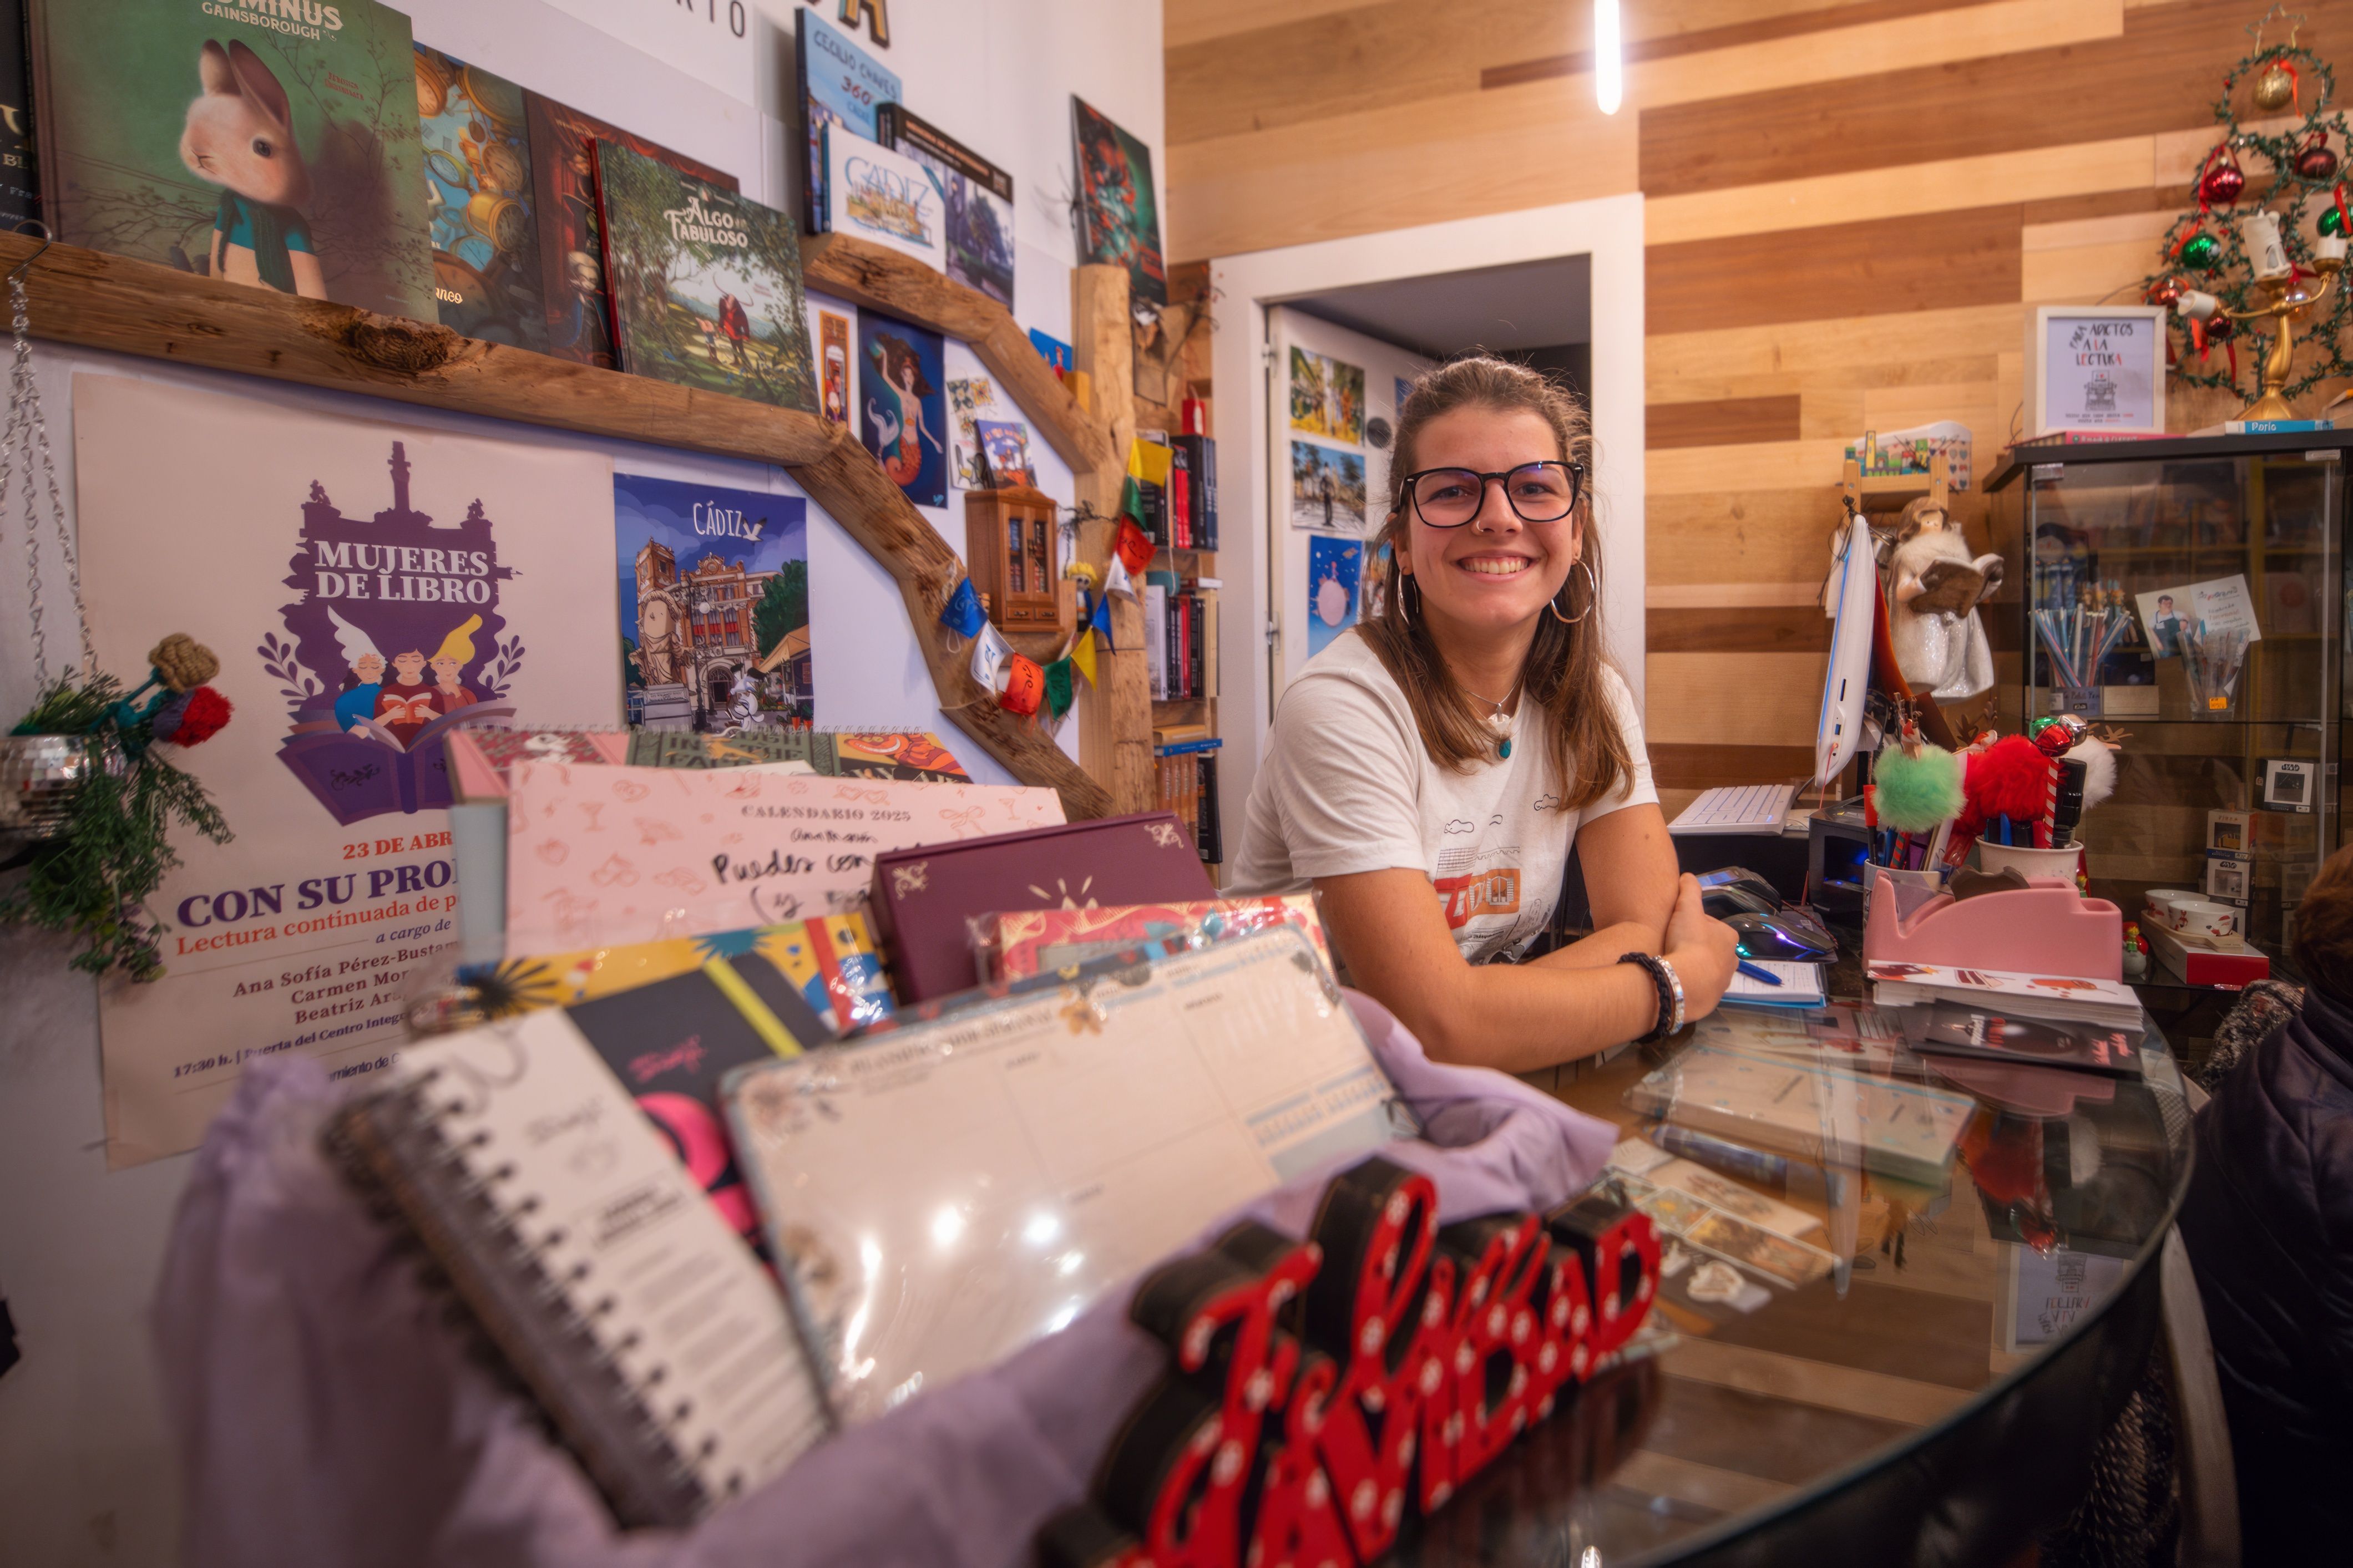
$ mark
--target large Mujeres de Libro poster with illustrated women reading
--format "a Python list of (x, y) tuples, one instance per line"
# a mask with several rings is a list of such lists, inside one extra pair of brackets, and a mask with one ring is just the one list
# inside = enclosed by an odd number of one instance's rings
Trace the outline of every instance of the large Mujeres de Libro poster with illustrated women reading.
[(165, 976), (106, 983), (106, 1159), (195, 1147), (245, 1063), (360, 1077), (409, 969), (454, 938), (442, 741), (621, 712), (612, 461), (120, 376), (73, 381), (99, 663), (165, 632), (221, 658), (235, 719), (174, 762), (235, 839), (174, 835)]

